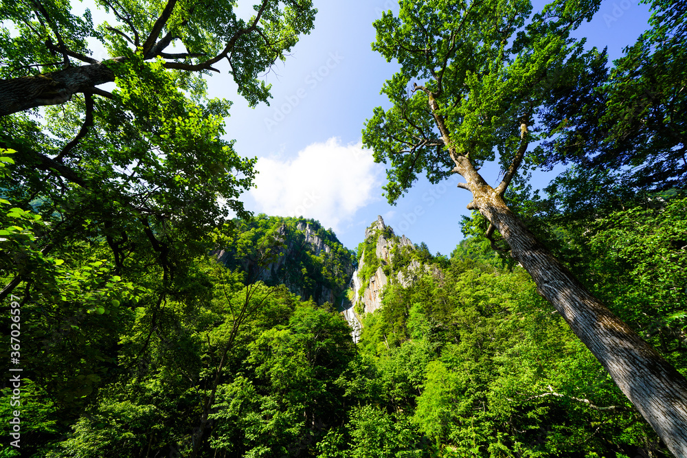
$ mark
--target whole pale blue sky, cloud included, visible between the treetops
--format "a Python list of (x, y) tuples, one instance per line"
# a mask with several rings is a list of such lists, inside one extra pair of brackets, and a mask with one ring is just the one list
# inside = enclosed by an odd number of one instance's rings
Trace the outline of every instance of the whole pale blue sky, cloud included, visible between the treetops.
[[(249, 17), (251, 2), (239, 3), (241, 15)], [(257, 188), (243, 194), (247, 209), (315, 218), (351, 249), (382, 215), (398, 235), (449, 255), (462, 239), (459, 222), (469, 214), (465, 207), (471, 200), (469, 192), (455, 187), (457, 177), (438, 185), (421, 180), (396, 206), (389, 205), (381, 196), (384, 165), (374, 163), (372, 152), (360, 144), (372, 108), (388, 106), (379, 91), (398, 68), (370, 47), (372, 22), (383, 10), (397, 10), (395, 4), (315, 0), (319, 12), (313, 32), (302, 37), (286, 62), (264, 75), (272, 84), (270, 106), (249, 108), (236, 94), (226, 65), (210, 78), (210, 96), (234, 102), (226, 138), (236, 139), (239, 154), (259, 158)], [(646, 30), (649, 15), (648, 6), (636, 0), (604, 1), (577, 36), (586, 36), (589, 47), (607, 46), (611, 59), (618, 58)], [(102, 12), (93, 16), (99, 22)], [(497, 184), (497, 167), (486, 165), (482, 173)], [(534, 174), (534, 187), (544, 187), (554, 173)]]

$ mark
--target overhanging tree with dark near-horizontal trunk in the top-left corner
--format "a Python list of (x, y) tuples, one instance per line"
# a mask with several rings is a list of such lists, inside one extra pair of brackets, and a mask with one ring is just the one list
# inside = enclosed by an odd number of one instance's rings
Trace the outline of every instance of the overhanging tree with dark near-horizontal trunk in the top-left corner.
[[(63, 104), (76, 93), (109, 98), (111, 94), (97, 86), (113, 82), (120, 73), (117, 64), (132, 54), (145, 61), (159, 59), (165, 69), (198, 73), (218, 72), (216, 67), (226, 59), (239, 92), (252, 106), (269, 96), (258, 74), (284, 59), (298, 35), (311, 30), (315, 14), (310, 0), (262, 0), (249, 21), (237, 17), (231, 1), (95, 3), (111, 11), (117, 23), (93, 28), (90, 12), (74, 16), (62, 1), (0, 3), (3, 20), (12, 21), (19, 32), (15, 38), (7, 33), (2, 40), (0, 116)], [(110, 57), (91, 57), (88, 36), (98, 38)]]

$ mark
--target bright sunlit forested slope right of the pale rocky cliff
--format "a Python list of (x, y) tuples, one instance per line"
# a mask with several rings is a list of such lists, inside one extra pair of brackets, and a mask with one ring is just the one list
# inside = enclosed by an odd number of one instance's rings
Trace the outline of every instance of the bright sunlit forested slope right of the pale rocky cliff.
[[(561, 257), (594, 253), (566, 260), (684, 371), (687, 200), (659, 202), (583, 230), (557, 224), (556, 240)], [(378, 224), (365, 252), (389, 238)], [(464, 240), (451, 260), (420, 245), (377, 260), (390, 280), (381, 308), (361, 314), (365, 381), (350, 389), (361, 402), (330, 433), (348, 451), (324, 456), (671, 456), (529, 275), (482, 240)], [(412, 263), (419, 275), (403, 284)]]

